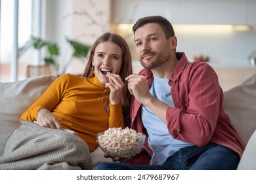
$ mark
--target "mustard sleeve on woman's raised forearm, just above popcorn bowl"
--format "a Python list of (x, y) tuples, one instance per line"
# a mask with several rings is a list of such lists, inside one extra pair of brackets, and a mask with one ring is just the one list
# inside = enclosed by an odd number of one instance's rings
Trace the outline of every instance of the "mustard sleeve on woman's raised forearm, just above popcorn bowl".
[(112, 105), (110, 103), (109, 127), (124, 127), (121, 103)]

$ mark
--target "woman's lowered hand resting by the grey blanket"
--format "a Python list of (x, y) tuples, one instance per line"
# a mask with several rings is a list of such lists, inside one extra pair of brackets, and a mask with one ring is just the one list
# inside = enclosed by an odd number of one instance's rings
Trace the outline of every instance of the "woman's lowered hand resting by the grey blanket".
[(41, 108), (37, 113), (37, 123), (43, 127), (62, 129), (62, 123), (46, 108)]

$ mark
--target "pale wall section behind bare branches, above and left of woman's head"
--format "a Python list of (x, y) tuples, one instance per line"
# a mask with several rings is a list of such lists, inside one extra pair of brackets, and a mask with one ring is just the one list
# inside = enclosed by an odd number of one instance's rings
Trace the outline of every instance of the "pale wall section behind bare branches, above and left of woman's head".
[[(95, 40), (110, 29), (110, 0), (74, 0), (72, 38), (85, 44)], [(81, 74), (87, 59), (73, 59), (69, 73)]]

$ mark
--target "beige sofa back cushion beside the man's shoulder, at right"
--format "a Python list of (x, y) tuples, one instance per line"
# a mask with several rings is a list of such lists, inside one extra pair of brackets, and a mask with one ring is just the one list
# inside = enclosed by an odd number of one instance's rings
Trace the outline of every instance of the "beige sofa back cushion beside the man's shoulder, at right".
[(224, 110), (247, 144), (256, 129), (256, 75), (224, 92)]

